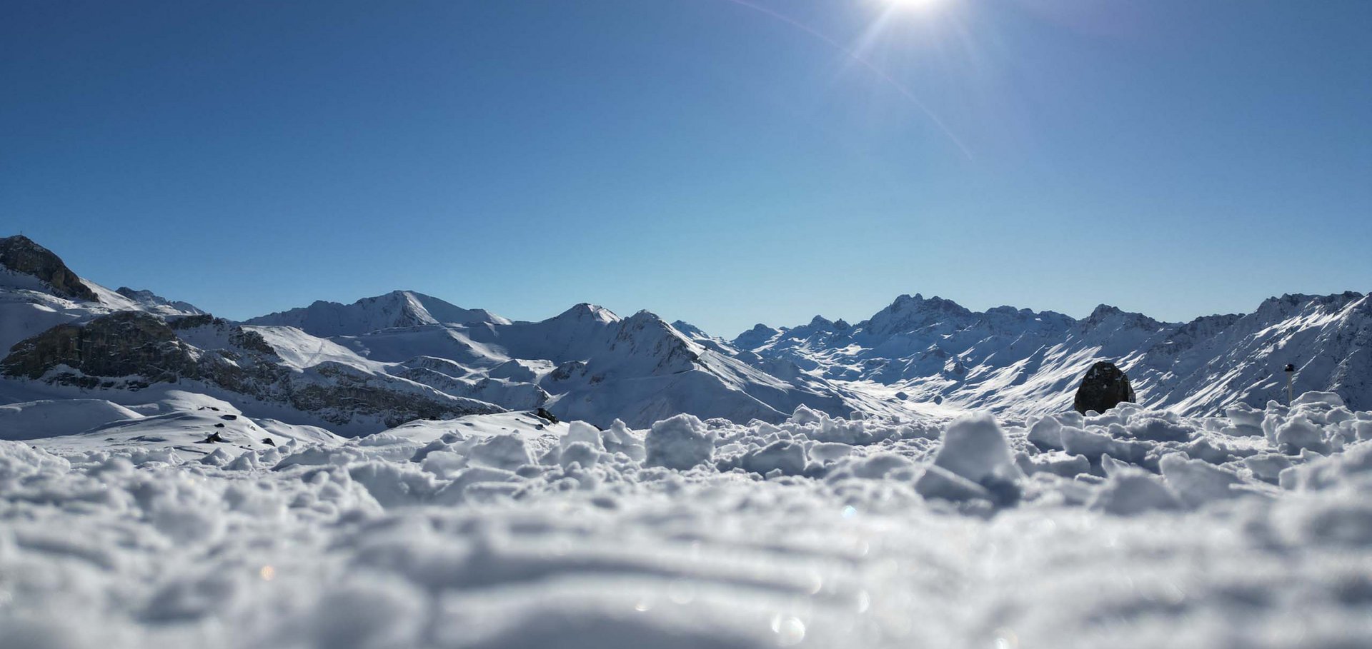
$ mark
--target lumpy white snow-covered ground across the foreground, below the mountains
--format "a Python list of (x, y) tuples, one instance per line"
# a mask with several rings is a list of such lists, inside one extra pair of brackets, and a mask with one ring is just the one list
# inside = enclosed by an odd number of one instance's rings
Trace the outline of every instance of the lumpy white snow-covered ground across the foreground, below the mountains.
[(357, 439), (167, 395), (0, 412), (0, 646), (1372, 638), (1372, 413), (1328, 394), (1024, 427), (501, 413)]

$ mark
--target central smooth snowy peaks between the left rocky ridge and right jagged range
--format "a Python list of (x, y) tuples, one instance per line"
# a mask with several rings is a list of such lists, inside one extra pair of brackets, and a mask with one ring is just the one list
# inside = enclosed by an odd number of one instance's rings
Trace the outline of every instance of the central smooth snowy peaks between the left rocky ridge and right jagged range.
[(339, 362), (600, 427), (616, 418), (646, 427), (682, 412), (779, 421), (801, 403), (852, 410), (851, 399), (822, 380), (778, 379), (734, 358), (723, 342), (687, 338), (648, 311), (620, 318), (582, 303), (539, 322), (510, 322), (456, 314), (457, 307), (439, 309), (434, 300), (397, 291), (251, 318), (247, 328), (294, 368)]

